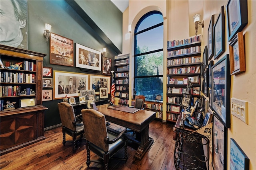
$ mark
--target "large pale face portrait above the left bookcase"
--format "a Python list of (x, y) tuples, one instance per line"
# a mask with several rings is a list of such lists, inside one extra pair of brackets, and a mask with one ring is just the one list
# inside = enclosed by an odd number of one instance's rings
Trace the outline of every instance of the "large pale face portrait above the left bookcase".
[[(2, 45), (28, 49), (28, 5), (27, 0), (1, 0), (0, 25), (8, 29), (5, 36), (1, 35)], [(7, 30), (6, 30), (7, 31)]]

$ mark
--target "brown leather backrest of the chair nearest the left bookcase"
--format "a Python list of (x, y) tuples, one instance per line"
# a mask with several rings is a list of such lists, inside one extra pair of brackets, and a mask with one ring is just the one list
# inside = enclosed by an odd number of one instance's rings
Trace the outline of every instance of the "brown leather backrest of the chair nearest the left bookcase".
[(65, 126), (72, 131), (76, 131), (76, 126), (73, 125), (73, 122), (76, 121), (73, 106), (67, 102), (61, 102), (58, 103), (58, 109), (62, 126)]

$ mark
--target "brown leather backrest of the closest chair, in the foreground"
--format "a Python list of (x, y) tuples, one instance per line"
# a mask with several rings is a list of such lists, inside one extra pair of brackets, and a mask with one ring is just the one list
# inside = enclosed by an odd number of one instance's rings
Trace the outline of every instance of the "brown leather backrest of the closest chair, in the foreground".
[(84, 121), (86, 140), (104, 151), (108, 151), (108, 144), (104, 141), (108, 137), (105, 116), (94, 109), (82, 109), (81, 113)]

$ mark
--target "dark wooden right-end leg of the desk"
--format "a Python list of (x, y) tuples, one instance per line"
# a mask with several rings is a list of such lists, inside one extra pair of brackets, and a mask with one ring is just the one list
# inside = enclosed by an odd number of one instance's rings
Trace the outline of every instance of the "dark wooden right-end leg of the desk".
[(148, 128), (149, 125), (140, 133), (136, 132), (136, 139), (140, 141), (140, 145), (136, 150), (134, 157), (139, 160), (141, 160), (148, 148), (154, 143), (154, 139), (148, 136)]

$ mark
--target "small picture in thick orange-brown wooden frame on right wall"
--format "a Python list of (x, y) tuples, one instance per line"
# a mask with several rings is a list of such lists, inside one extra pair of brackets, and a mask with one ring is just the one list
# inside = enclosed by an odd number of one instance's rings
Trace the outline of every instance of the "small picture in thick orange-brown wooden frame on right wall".
[(236, 34), (229, 45), (231, 75), (245, 72), (244, 36), (243, 32)]

